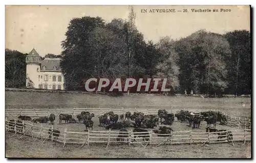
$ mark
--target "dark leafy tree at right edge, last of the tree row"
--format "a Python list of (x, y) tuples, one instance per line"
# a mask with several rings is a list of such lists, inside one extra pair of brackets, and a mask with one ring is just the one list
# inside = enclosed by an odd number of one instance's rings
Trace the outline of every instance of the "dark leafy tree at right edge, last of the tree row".
[(251, 93), (251, 48), (250, 32), (235, 30), (224, 35), (230, 44), (231, 58), (226, 60), (229, 94)]

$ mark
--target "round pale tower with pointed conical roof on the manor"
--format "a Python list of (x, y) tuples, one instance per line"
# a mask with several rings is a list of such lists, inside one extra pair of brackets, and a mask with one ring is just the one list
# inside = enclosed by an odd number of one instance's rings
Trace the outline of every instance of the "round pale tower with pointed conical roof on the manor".
[(41, 57), (39, 54), (35, 51), (33, 48), (32, 51), (27, 55), (26, 57), (26, 74), (27, 74), (27, 80), (26, 80), (26, 86), (29, 86), (29, 80), (30, 79), (33, 82), (33, 87), (38, 88), (39, 84), (39, 73), (40, 73), (40, 64), (41, 64)]

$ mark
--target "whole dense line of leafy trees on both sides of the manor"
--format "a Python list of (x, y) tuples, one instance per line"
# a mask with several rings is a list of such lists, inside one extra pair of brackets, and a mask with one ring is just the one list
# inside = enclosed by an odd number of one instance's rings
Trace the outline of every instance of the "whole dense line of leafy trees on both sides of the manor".
[[(111, 83), (116, 78), (167, 78), (170, 93), (251, 94), (249, 31), (221, 35), (199, 30), (179, 40), (166, 36), (153, 43), (137, 30), (135, 16), (131, 10), (127, 21), (106, 23), (90, 16), (70, 21), (61, 55), (46, 56), (61, 57), (66, 89), (84, 89), (89, 78), (108, 78)], [(8, 87), (25, 85), (25, 57), (6, 50)]]

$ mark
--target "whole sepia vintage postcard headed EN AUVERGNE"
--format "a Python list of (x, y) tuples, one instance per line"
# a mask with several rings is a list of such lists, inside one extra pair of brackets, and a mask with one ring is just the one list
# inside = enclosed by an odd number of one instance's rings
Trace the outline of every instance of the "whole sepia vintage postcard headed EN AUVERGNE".
[(250, 6), (6, 6), (7, 158), (251, 158)]

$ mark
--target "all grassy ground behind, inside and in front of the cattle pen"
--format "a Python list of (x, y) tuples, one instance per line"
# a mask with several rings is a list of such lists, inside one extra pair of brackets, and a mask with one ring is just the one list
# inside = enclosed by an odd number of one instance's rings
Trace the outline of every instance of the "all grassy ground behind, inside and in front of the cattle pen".
[[(219, 109), (229, 115), (237, 117), (250, 117), (250, 98), (196, 98), (196, 97), (166, 97), (166, 96), (125, 96), (110, 97), (95, 94), (67, 94), (64, 92), (19, 92), (6, 91), (6, 108), (173, 108), (173, 109)], [(243, 105), (244, 104), (244, 105)], [(93, 118), (94, 130), (105, 130), (99, 127), (97, 116)], [(29, 122), (31, 123), (31, 122)], [(62, 122), (64, 123), (64, 121)], [(175, 131), (190, 130), (191, 127), (185, 123), (174, 122), (172, 128)], [(50, 124), (43, 124), (50, 127)], [(192, 129), (193, 132), (205, 132), (206, 123), (202, 122), (200, 129)], [(54, 128), (68, 131), (84, 132), (83, 124), (58, 124), (58, 118), (54, 122)], [(232, 129), (217, 124), (217, 129)], [(42, 141), (34, 142), (31, 137), (23, 137), (17, 140), (17, 136), (10, 137), (6, 134), (6, 156), (7, 157), (61, 157), (61, 158), (246, 158), (250, 157), (251, 144), (236, 143), (236, 147), (224, 144), (213, 144), (210, 147), (198, 145), (174, 145), (146, 147), (141, 146), (118, 146), (112, 145), (105, 150), (106, 145), (86, 146), (80, 148), (78, 145), (68, 144), (62, 148), (59, 143)]]

